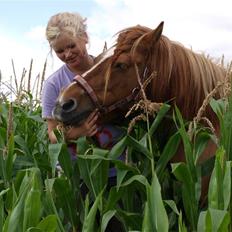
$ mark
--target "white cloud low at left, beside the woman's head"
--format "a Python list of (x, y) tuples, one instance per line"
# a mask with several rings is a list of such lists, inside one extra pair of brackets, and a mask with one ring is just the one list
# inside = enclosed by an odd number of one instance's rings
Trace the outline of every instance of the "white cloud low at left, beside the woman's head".
[(0, 70), (3, 81), (9, 81), (14, 76), (12, 60), (14, 62), (17, 79), (20, 80), (23, 69), (29, 72), (30, 62), (33, 59), (32, 78), (42, 74), (46, 58), (48, 59), (46, 76), (55, 71), (61, 64), (56, 56), (49, 55), (50, 48), (44, 36), (45, 27), (36, 26), (19, 38), (4, 35), (1, 33), (0, 44)]

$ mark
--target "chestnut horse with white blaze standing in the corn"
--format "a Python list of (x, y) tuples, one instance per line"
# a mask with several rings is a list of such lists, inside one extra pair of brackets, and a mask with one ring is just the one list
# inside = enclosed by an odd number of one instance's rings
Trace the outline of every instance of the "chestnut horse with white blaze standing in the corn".
[[(183, 118), (192, 120), (226, 72), (204, 55), (169, 40), (162, 30), (163, 22), (154, 30), (138, 25), (120, 31), (115, 46), (60, 94), (56, 119), (77, 123), (95, 108), (106, 115), (126, 112), (139, 100), (139, 81), (146, 82), (155, 72), (145, 89), (147, 98), (177, 105)], [(210, 107), (205, 115), (218, 128)]]

